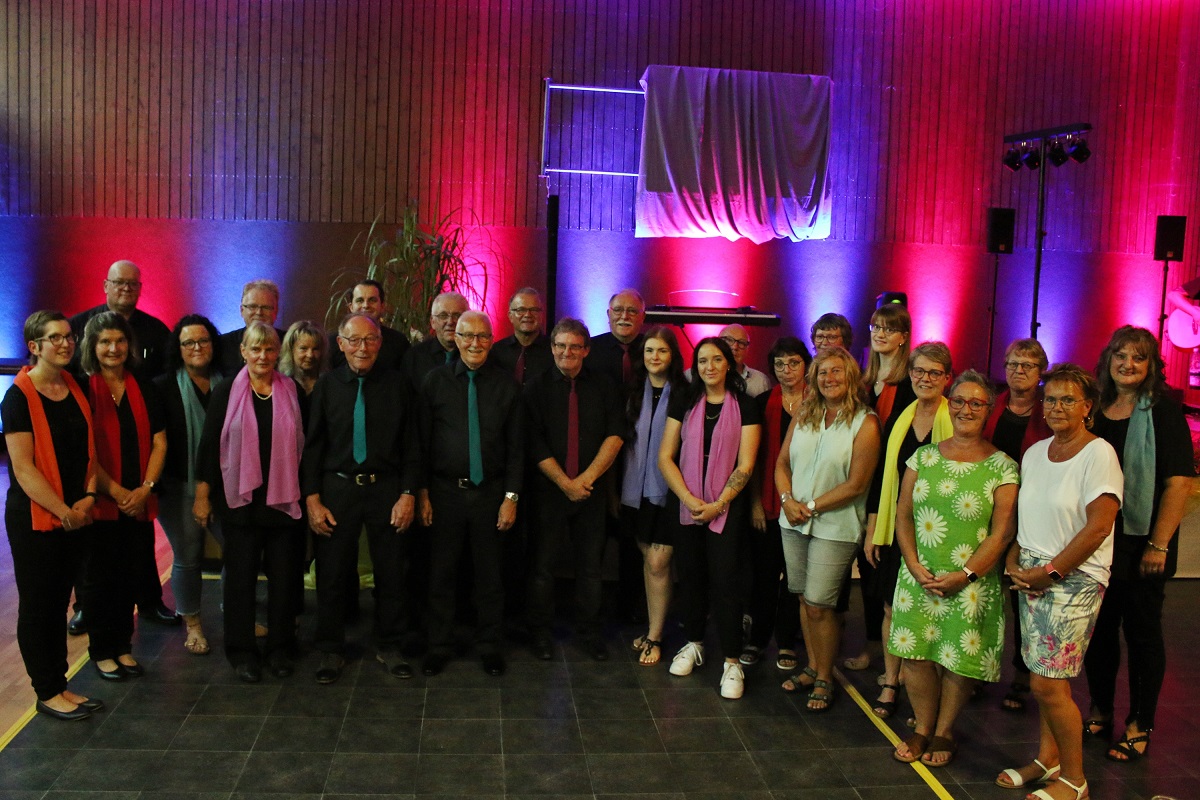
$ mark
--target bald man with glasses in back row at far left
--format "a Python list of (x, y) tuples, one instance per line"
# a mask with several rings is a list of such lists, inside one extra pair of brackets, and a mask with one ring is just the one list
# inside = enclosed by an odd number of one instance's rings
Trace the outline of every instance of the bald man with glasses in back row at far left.
[[(133, 329), (133, 341), (130, 342), (130, 353), (137, 354), (140, 363), (137, 374), (146, 383), (157, 378), (166, 371), (167, 341), (170, 338), (170, 329), (158, 319), (138, 308), (138, 300), (142, 297), (142, 270), (133, 261), (114, 261), (108, 267), (108, 277), (104, 278), (104, 302), (88, 311), (79, 312), (71, 318), (71, 332), (76, 335), (78, 342), (83, 342), (83, 330), (88, 320), (106, 311), (114, 311), (128, 320)], [(79, 357), (82, 348), (76, 348), (71, 360), (72, 371), (79, 374)], [(134, 569), (134, 601), (138, 606), (138, 616), (164, 625), (179, 625), (179, 616), (162, 602), (162, 582), (158, 579), (158, 564), (155, 560), (152, 548), (139, 551), (142, 558)], [(82, 584), (80, 584), (82, 585)], [(88, 632), (86, 621), (82, 606), (76, 603), (76, 614), (71, 618), (70, 631), (73, 636)]]

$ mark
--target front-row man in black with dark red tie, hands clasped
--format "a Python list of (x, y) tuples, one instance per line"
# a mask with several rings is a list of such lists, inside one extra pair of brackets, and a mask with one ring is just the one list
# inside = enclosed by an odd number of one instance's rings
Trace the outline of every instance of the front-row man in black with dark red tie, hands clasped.
[[(540, 475), (534, 481), (530, 531), (532, 576), (528, 618), (534, 654), (553, 657), (554, 553), (570, 534), (575, 540), (578, 630), (588, 654), (608, 657), (600, 636), (600, 566), (605, 545), (605, 497), (596, 483), (620, 452), (625, 421), (617, 387), (584, 366), (588, 329), (564, 318), (551, 332), (554, 368), (524, 387), (526, 452)], [(572, 411), (572, 408), (575, 409)]]

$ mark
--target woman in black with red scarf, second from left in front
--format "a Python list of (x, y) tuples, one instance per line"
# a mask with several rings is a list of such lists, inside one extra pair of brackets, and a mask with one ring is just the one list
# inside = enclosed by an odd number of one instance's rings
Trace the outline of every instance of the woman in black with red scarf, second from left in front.
[(88, 652), (106, 680), (143, 674), (132, 655), (133, 565), (139, 563), (138, 551), (154, 548), (158, 515), (154, 487), (167, 457), (167, 426), (154, 385), (138, 383), (126, 368), (132, 341), (128, 321), (104, 312), (88, 321), (80, 357), (88, 373), (101, 493), (83, 606), (89, 615)]

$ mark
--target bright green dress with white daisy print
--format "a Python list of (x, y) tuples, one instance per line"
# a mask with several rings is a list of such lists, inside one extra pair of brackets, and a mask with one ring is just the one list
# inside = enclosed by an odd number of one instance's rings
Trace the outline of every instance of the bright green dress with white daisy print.
[[(920, 563), (935, 575), (961, 570), (988, 539), (996, 488), (1020, 483), (1016, 462), (998, 451), (978, 463), (950, 461), (931, 444), (919, 447), (907, 465), (917, 470), (912, 512)], [(994, 569), (958, 594), (938, 597), (922, 590), (901, 564), (888, 651), (934, 661), (967, 678), (1000, 680), (1004, 649), (1000, 572)]]

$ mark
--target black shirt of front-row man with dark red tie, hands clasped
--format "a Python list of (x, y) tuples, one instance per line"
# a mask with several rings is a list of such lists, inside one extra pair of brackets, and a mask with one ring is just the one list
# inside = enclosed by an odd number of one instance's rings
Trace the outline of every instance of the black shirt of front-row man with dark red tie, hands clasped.
[[(559, 467), (566, 464), (566, 399), (570, 380), (557, 368), (547, 369), (524, 385), (526, 455), (534, 467), (553, 458)], [(575, 379), (580, 410), (580, 470), (588, 468), (608, 437), (625, 438), (625, 415), (622, 413), (617, 386), (608, 378), (596, 374), (584, 363)], [(534, 488), (558, 492), (550, 479), (538, 470)]]

